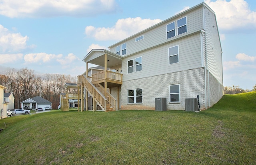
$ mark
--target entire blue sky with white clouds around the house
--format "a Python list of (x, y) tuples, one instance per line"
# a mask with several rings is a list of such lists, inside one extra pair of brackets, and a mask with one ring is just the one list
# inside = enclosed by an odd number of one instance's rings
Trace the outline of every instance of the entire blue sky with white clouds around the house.
[(91, 49), (107, 49), (202, 2), (216, 13), (224, 86), (253, 89), (255, 0), (0, 0), (0, 74), (28, 68), (78, 76)]

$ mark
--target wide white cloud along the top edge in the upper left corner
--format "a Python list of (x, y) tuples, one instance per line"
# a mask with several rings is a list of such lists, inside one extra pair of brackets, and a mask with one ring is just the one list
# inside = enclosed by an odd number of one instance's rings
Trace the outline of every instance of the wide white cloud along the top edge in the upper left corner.
[(115, 0), (1, 0), (0, 14), (10, 17), (95, 16), (118, 10)]

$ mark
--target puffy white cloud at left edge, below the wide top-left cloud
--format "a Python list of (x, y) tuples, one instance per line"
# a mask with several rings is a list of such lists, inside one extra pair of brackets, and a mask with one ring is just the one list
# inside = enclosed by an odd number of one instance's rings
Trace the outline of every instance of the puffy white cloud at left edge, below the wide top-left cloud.
[(4, 26), (0, 25), (0, 53), (15, 53), (33, 48), (27, 46), (28, 36), (22, 36), (20, 33), (12, 33)]

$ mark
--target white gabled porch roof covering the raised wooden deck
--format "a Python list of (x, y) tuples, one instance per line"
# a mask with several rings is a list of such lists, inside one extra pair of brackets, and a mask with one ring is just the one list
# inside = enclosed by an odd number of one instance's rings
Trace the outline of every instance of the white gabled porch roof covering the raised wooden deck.
[(107, 68), (122, 63), (123, 57), (106, 49), (92, 49), (83, 59), (84, 62), (98, 66), (105, 65), (105, 54), (107, 54)]

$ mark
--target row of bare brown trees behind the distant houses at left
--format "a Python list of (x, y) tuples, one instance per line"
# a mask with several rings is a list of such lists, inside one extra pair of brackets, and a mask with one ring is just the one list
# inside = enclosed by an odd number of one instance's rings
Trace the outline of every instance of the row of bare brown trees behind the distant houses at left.
[(35, 96), (52, 102), (52, 108), (58, 109), (60, 93), (65, 93), (65, 82), (77, 83), (77, 77), (65, 74), (35, 74), (34, 70), (8, 68), (0, 74), (0, 84), (7, 87), (6, 93), (14, 95), (14, 107), (20, 108), (20, 102)]

